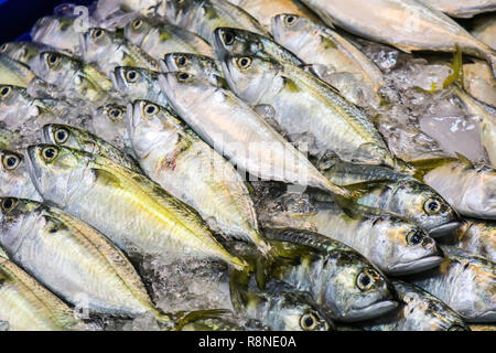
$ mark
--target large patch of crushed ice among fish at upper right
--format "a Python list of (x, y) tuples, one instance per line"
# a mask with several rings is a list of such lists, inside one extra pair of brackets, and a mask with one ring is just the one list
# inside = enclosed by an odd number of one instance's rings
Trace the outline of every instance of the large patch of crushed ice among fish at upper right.
[(396, 156), (412, 161), (460, 152), (485, 160), (478, 119), (453, 99), (450, 87), (443, 88), (452, 75), (449, 61), (430, 63), (376, 43), (362, 50), (385, 74), (386, 103), (376, 125)]

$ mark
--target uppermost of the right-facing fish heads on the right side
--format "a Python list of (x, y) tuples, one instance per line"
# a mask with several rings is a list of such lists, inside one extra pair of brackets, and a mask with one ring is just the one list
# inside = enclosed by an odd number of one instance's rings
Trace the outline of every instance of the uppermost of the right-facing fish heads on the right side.
[(418, 224), (432, 237), (442, 236), (460, 226), (456, 212), (433, 189), (417, 181), (403, 181), (395, 189), (392, 212)]

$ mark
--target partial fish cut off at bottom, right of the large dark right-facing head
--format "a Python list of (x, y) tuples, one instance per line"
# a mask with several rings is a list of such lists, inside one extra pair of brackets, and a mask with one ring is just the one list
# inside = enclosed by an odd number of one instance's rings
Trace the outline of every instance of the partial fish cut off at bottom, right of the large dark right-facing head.
[(463, 319), (444, 302), (422, 289), (392, 280), (401, 300), (397, 317), (403, 320), (405, 329), (411, 331), (470, 331)]

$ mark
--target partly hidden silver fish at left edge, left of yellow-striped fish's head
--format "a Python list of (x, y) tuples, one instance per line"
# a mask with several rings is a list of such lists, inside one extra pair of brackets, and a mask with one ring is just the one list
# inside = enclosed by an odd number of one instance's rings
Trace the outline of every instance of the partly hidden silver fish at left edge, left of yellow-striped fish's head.
[(0, 196), (42, 201), (31, 182), (29, 165), (18, 152), (0, 150)]

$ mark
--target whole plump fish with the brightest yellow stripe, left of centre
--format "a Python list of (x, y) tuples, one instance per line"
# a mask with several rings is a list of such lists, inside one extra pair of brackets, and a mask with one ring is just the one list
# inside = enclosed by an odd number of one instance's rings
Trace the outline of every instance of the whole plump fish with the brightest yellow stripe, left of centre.
[(227, 253), (200, 215), (142, 174), (98, 154), (52, 145), (28, 148), (43, 199), (87, 222), (119, 247), (246, 263)]

